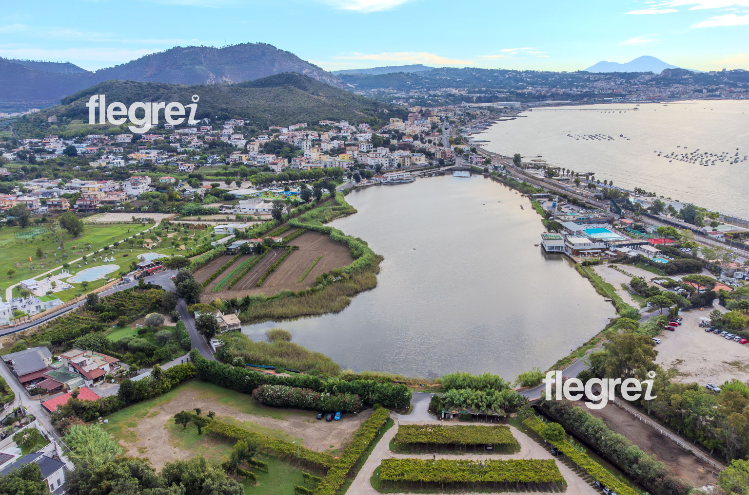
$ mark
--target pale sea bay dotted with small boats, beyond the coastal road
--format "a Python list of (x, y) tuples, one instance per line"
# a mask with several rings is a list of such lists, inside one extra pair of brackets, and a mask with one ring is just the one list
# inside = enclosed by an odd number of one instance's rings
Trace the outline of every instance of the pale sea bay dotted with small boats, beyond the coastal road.
[[(648, 103), (637, 106), (637, 111), (621, 113), (607, 109), (635, 105), (563, 108), (601, 111), (527, 111), (522, 114), (526, 117), (497, 123), (471, 137), (490, 140), (482, 147), (495, 153), (521, 153), (527, 158), (541, 155), (554, 165), (576, 172), (595, 172), (601, 182), (613, 180), (614, 185), (640, 187), (749, 218), (749, 160), (734, 164), (718, 161), (705, 167), (653, 153), (681, 155), (699, 149), (697, 153), (727, 152), (733, 157), (738, 152), (743, 160), (749, 155), (749, 100)], [(610, 135), (613, 141), (580, 138), (595, 134)]]

